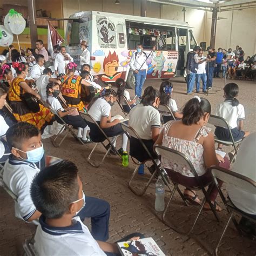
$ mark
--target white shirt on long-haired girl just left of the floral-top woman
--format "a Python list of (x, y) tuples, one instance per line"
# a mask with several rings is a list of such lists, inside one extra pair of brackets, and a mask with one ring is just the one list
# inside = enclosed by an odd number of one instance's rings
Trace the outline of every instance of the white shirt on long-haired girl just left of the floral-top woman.
[(160, 128), (160, 113), (153, 106), (139, 104), (132, 108), (129, 125), (142, 139), (152, 139), (151, 129)]

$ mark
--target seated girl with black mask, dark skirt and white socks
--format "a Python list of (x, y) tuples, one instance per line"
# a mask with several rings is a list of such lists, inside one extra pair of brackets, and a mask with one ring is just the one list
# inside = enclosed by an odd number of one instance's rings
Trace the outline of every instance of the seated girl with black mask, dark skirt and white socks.
[[(79, 115), (79, 112), (74, 107), (68, 107), (64, 109), (62, 104), (58, 100), (59, 84), (50, 82), (46, 86), (47, 101), (51, 107), (57, 111), (58, 115), (67, 123), (74, 127), (78, 127), (77, 137), (81, 138), (84, 143), (91, 143), (91, 140), (87, 138), (87, 131), (89, 126), (86, 124), (84, 118)], [(56, 117), (58, 123), (62, 123), (58, 117)], [(83, 130), (83, 137), (82, 137)]]

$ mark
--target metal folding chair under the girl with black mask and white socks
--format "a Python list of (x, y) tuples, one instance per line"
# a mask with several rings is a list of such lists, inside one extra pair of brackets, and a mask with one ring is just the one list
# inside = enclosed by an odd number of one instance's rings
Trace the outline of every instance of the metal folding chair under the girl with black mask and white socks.
[[(77, 137), (77, 134), (75, 132), (73, 132), (73, 126), (71, 124), (67, 124), (64, 119), (62, 117), (59, 116), (58, 112), (53, 109), (53, 107), (51, 107), (51, 105), (47, 102), (43, 102), (43, 100), (40, 100), (40, 103), (43, 104), (45, 107), (47, 107), (52, 114), (54, 114), (55, 116), (57, 116), (59, 118), (59, 120), (62, 122), (63, 126), (62, 128), (59, 130), (59, 132), (57, 133), (57, 135), (55, 136), (55, 138), (52, 140), (52, 145), (55, 146), (55, 147), (59, 147), (64, 139), (66, 138), (66, 136), (68, 136), (69, 132), (72, 134), (72, 136), (77, 139), (82, 145), (84, 145), (82, 139), (78, 138)], [(59, 143), (56, 142), (56, 140), (58, 139), (58, 137), (60, 136), (60, 134), (66, 130), (63, 138), (60, 140)]]

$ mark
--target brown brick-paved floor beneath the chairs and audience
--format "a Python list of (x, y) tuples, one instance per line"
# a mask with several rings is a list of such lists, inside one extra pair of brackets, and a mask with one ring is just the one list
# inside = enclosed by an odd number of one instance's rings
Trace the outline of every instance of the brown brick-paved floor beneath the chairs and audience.
[[(192, 97), (185, 94), (186, 84), (183, 81), (182, 78), (173, 79), (173, 98), (176, 99), (179, 108)], [(234, 82), (239, 84), (238, 98), (245, 106), (245, 130), (255, 132), (256, 83)], [(144, 88), (149, 85), (159, 87), (160, 80), (147, 80)], [(224, 80), (215, 78), (213, 90), (209, 92), (209, 95), (200, 95), (210, 100), (213, 110), (217, 103), (223, 101), (223, 87)], [(130, 93), (131, 97), (134, 96), (132, 90)], [(121, 113), (117, 104), (113, 108), (113, 113)], [(167, 255), (207, 255), (213, 251), (227, 220), (228, 214), (225, 210), (219, 214), (220, 223), (215, 220), (211, 212), (201, 214), (194, 230), (195, 234), (187, 237), (181, 233), (186, 232), (190, 227), (198, 207), (185, 207), (180, 197), (176, 195), (167, 218), (170, 223), (177, 226), (179, 233), (161, 223), (157, 217), (159, 214), (154, 211), (154, 184), (143, 197), (135, 196), (127, 187), (127, 181), (135, 168), (131, 159), (129, 167), (122, 167), (120, 159), (116, 156), (108, 156), (104, 165), (96, 169), (86, 161), (93, 147), (92, 144), (82, 146), (73, 137), (68, 136), (58, 149), (52, 146), (51, 138), (44, 140), (44, 147), (46, 154), (69, 159), (76, 163), (87, 196), (109, 201), (111, 205), (109, 241), (116, 241), (132, 232), (141, 232), (147, 237), (153, 237)], [(100, 160), (103, 152), (104, 150), (99, 147), (94, 159)], [(146, 177), (139, 177), (135, 185), (139, 187), (145, 183)], [(166, 201), (167, 196), (169, 196), (168, 192), (166, 192)], [(0, 188), (0, 201), (2, 205), (0, 207), (0, 255), (21, 255), (21, 243), (25, 238), (31, 237), (35, 232), (35, 226), (15, 218), (14, 202), (2, 188)], [(220, 202), (220, 198), (217, 198), (217, 201)], [(86, 223), (90, 222), (86, 220)], [(219, 249), (219, 255), (255, 255), (255, 252), (255, 241), (239, 237), (233, 224), (230, 224)]]

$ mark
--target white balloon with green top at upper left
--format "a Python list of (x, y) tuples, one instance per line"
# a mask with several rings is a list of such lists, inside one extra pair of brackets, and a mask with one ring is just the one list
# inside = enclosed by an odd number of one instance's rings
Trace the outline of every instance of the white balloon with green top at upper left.
[(14, 33), (15, 35), (19, 35), (24, 31), (26, 21), (22, 17), (22, 14), (19, 14), (14, 9), (11, 9), (4, 18), (4, 26), (10, 32)]

